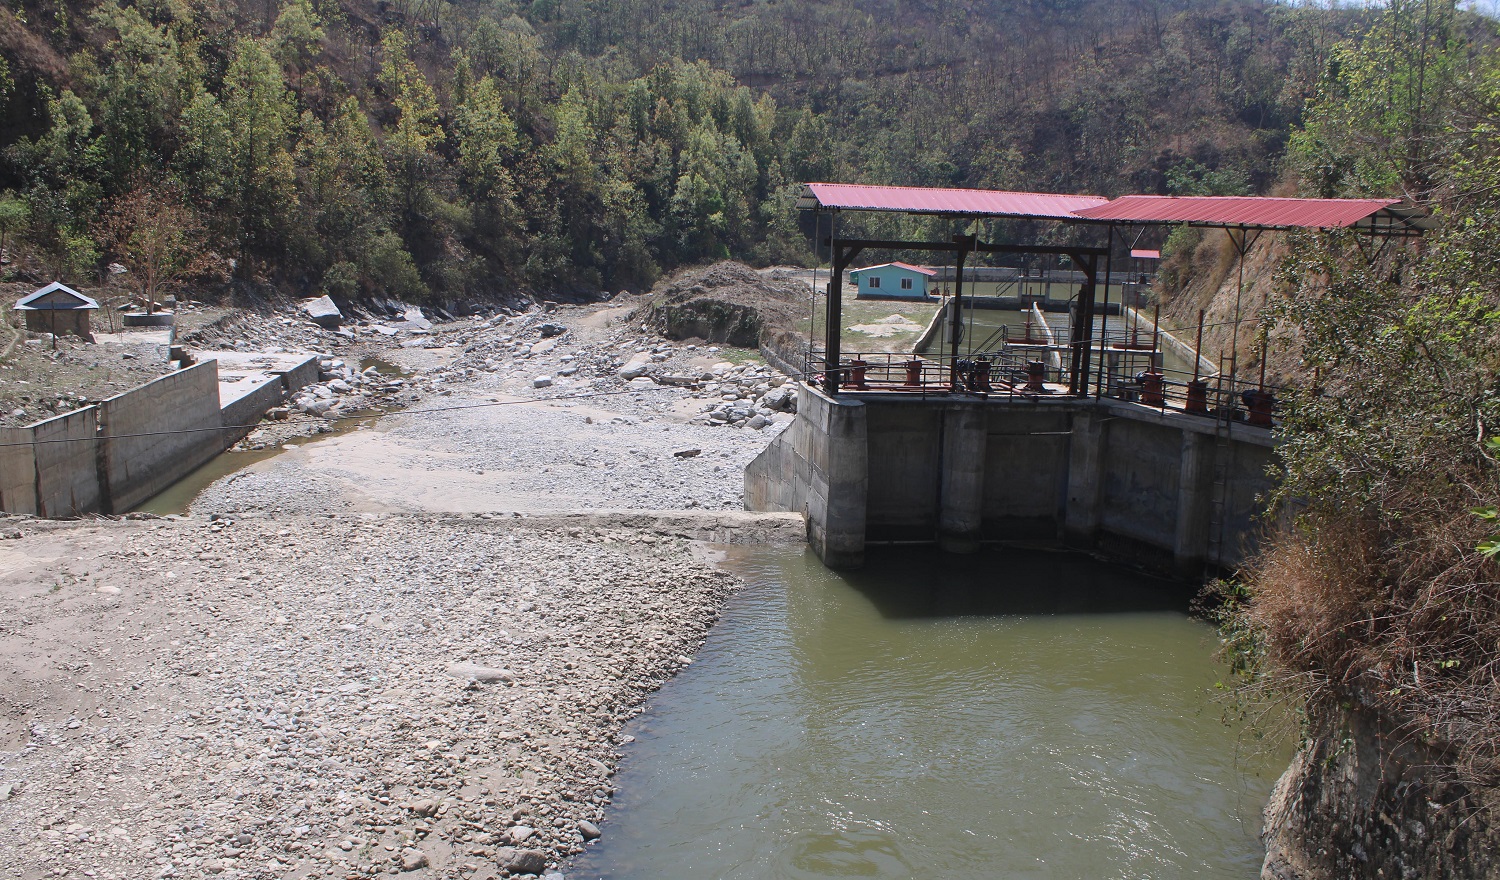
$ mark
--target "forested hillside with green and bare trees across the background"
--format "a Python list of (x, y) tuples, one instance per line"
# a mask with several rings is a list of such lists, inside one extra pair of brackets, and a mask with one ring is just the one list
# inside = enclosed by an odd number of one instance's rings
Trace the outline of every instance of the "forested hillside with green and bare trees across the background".
[(806, 180), (1260, 192), (1359, 25), (1256, 0), (6, 0), (0, 246), (36, 280), (453, 300), (807, 259)]

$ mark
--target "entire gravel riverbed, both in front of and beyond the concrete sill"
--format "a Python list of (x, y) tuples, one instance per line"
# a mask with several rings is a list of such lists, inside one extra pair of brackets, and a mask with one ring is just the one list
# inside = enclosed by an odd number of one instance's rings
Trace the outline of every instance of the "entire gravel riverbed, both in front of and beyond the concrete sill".
[(192, 516), (0, 522), (0, 877), (488, 879), (608, 834), (621, 726), (736, 588), (705, 541), (802, 540), (738, 510), (786, 378), (627, 313), (404, 331), (414, 411)]

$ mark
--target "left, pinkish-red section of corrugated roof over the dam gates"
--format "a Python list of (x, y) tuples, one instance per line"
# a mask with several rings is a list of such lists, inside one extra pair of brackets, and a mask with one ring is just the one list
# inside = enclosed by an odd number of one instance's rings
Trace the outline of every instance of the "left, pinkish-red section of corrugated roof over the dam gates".
[(1056, 195), (1048, 192), (808, 183), (796, 207), (1072, 220), (1077, 219), (1076, 211), (1100, 207), (1107, 201), (1095, 195)]

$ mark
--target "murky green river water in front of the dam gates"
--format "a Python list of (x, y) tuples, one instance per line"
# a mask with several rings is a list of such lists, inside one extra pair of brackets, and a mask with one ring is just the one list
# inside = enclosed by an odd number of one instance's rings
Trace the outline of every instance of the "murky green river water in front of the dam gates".
[(726, 565), (748, 588), (627, 730), (568, 877), (1257, 876), (1290, 742), (1224, 721), (1180, 588), (1014, 549)]

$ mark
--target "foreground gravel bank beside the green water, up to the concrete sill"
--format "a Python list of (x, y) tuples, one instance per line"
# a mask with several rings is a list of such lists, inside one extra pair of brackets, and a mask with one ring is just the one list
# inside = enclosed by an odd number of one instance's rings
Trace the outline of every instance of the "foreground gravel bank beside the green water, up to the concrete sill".
[(621, 724), (795, 517), (6, 525), (0, 874), (488, 879), (598, 823)]

